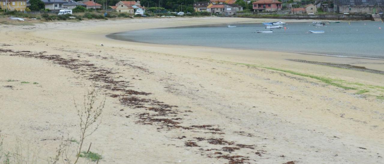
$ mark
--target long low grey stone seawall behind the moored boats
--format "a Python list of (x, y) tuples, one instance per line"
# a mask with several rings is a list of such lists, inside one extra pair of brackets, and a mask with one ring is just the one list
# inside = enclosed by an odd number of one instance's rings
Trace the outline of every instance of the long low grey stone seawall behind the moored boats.
[(229, 17), (242, 18), (279, 18), (279, 19), (314, 19), (314, 20), (372, 20), (371, 14), (354, 14), (354, 15), (232, 15)]

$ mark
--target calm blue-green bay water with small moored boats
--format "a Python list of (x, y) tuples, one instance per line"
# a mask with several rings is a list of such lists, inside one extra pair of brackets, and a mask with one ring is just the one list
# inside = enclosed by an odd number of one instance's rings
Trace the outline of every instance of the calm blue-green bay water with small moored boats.
[[(289, 51), (334, 56), (369, 57), (384, 59), (384, 23), (351, 21), (316, 27), (311, 23), (288, 23), (287, 29), (273, 33), (262, 24), (231, 24), (159, 28), (109, 34), (107, 37), (125, 41), (156, 44), (180, 44), (266, 51)], [(229, 24), (228, 24), (229, 25)], [(382, 29), (379, 29), (381, 27)], [(324, 30), (322, 34), (309, 30)]]

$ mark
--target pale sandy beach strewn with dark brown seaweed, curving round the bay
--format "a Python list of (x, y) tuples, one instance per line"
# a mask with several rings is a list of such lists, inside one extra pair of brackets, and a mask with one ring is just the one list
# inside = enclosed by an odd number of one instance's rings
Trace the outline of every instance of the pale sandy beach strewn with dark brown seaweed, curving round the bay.
[[(74, 100), (82, 103), (95, 86), (105, 108), (85, 145), (92, 142), (91, 151), (103, 157), (99, 163), (382, 163), (384, 75), (297, 60), (384, 71), (383, 60), (106, 38), (147, 28), (265, 21), (275, 20), (0, 25), (3, 147), (21, 141), (38, 161), (54, 157), (61, 138), (79, 140)], [(76, 143), (70, 148), (75, 154)]]

